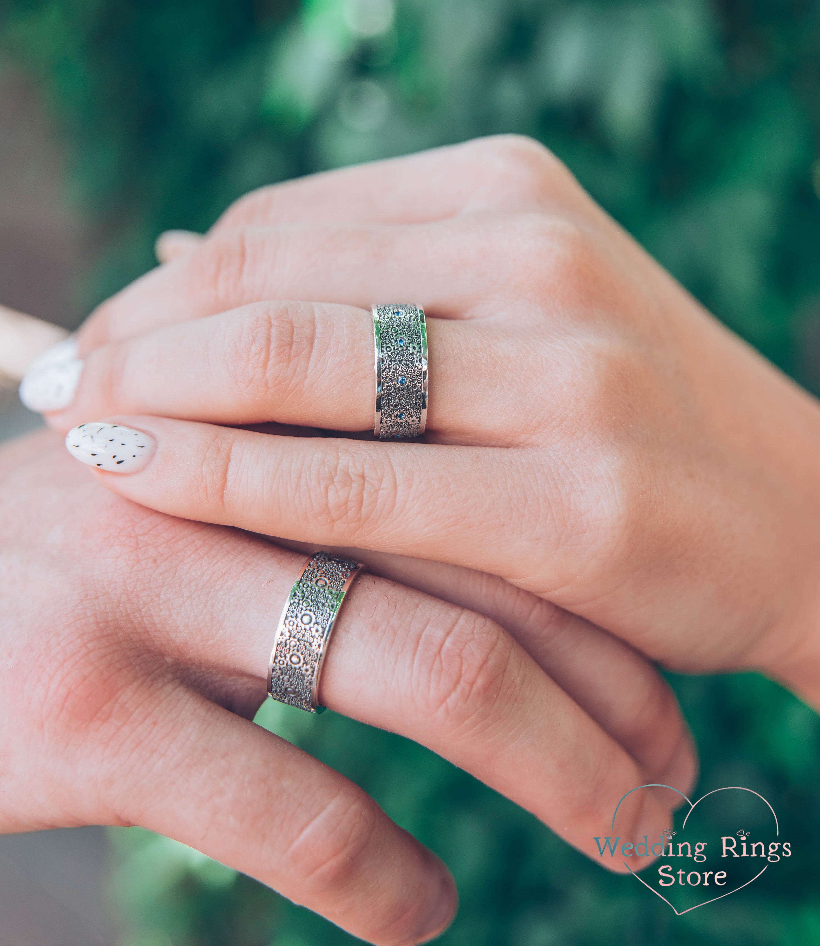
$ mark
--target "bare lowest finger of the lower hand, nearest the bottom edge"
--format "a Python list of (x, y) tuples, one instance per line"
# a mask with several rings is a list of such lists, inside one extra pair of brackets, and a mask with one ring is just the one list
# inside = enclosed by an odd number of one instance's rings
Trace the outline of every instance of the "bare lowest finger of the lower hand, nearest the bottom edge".
[(99, 760), (113, 821), (201, 850), (368, 942), (424, 941), (452, 920), (446, 867), (356, 785), (177, 680), (146, 696)]

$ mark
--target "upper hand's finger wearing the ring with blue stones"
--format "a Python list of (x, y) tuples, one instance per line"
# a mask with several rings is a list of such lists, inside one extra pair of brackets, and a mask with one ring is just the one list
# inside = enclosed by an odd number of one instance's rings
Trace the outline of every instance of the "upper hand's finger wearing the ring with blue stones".
[[(505, 353), (526, 328), (427, 320), (435, 396), (427, 429), (447, 443), (515, 447), (529, 442), (516, 405), (518, 373)], [(373, 429), (373, 317), (361, 309), (259, 303), (112, 342), (85, 360), (66, 430), (86, 417), (148, 413), (226, 425), (276, 421)], [(495, 378), (509, 377), (509, 384)]]

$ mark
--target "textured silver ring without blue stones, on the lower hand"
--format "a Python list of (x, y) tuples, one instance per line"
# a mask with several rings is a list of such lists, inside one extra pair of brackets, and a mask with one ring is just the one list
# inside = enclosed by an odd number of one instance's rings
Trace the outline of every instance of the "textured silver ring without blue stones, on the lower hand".
[(276, 628), (268, 674), (274, 700), (307, 712), (323, 711), (316, 701), (324, 651), (344, 595), (362, 568), (330, 552), (307, 559)]

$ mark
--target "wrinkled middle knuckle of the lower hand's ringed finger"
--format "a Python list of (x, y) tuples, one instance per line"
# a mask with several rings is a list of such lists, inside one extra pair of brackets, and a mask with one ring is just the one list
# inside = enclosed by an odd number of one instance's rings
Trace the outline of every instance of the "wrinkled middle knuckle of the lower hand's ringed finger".
[(431, 622), (420, 646), (429, 679), (427, 706), (448, 727), (474, 731), (496, 715), (498, 699), (515, 687), (513, 642), (488, 618), (462, 609)]

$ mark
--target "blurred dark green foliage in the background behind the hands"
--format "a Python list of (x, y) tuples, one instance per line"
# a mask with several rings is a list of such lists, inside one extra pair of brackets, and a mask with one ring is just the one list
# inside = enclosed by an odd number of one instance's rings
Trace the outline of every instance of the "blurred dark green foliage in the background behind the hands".
[[(727, 324), (820, 387), (816, 0), (4, 0), (5, 54), (72, 143), (109, 235), (89, 300), (259, 184), (499, 131), (555, 150)], [(418, 745), (272, 704), (259, 722), (364, 786), (462, 893), (447, 946), (820, 942), (820, 725), (754, 674), (672, 677), (698, 793), (768, 797), (794, 857), (676, 918)], [(579, 747), (583, 751), (583, 746)], [(115, 832), (124, 946), (351, 942), (148, 832)]]

